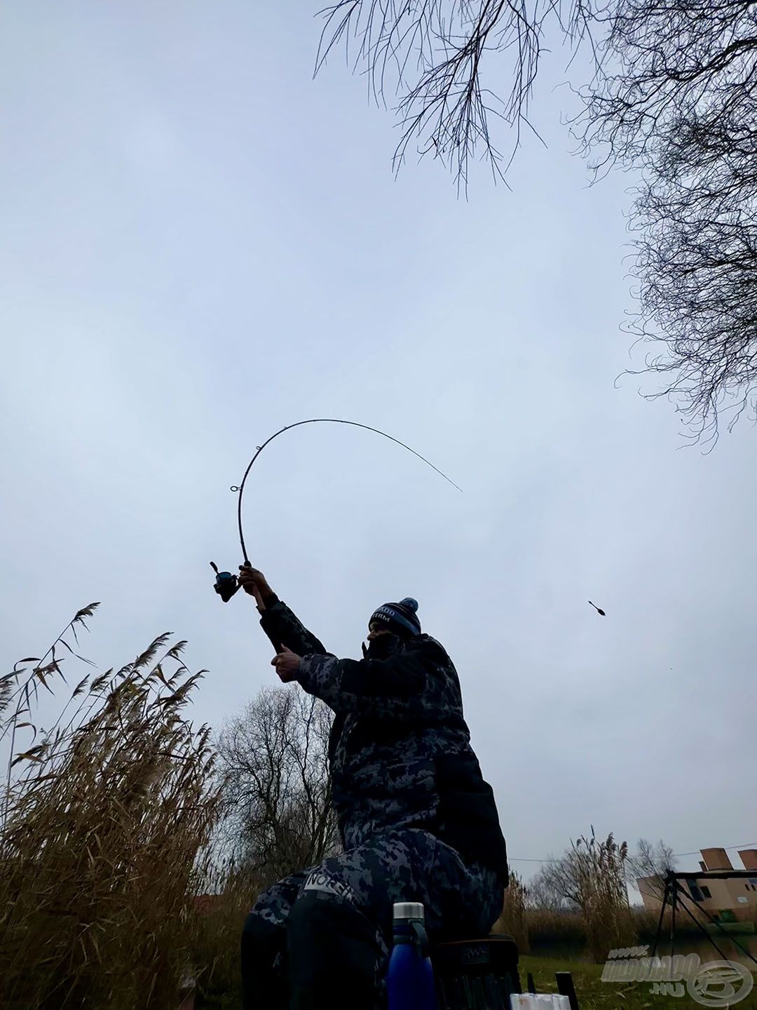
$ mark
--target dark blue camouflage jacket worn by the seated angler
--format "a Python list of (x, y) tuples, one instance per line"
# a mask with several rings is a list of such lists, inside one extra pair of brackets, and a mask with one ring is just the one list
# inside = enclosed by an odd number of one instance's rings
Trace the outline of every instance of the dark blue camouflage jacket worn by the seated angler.
[(387, 828), (421, 827), (507, 884), (505, 839), (462, 714), (452, 661), (429, 635), (388, 660), (338, 660), (278, 598), (260, 624), (302, 663), (309, 694), (335, 714), (329, 740), (334, 803), (351, 848)]

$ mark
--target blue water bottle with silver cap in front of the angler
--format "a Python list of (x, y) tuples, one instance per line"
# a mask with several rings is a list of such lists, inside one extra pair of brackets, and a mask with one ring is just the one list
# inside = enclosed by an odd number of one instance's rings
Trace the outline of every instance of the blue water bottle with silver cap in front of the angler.
[(403, 901), (394, 906), (394, 935), (387, 978), (389, 1010), (436, 1010), (423, 905)]

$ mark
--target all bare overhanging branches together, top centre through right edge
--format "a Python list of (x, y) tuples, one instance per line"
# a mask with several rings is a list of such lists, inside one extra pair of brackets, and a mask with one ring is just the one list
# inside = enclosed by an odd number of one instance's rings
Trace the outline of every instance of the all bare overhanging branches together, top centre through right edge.
[[(633, 374), (660, 380), (650, 395), (669, 397), (695, 440), (757, 408), (755, 0), (337, 0), (321, 13), (316, 69), (352, 43), (372, 96), (397, 92), (395, 165), (415, 142), (463, 187), (475, 153), (504, 178), (545, 37), (573, 54), (588, 42), (581, 149), (599, 175), (620, 163), (642, 179), (628, 328), (656, 347)], [(509, 75), (499, 94), (493, 54)], [(505, 158), (493, 118), (513, 128)]]

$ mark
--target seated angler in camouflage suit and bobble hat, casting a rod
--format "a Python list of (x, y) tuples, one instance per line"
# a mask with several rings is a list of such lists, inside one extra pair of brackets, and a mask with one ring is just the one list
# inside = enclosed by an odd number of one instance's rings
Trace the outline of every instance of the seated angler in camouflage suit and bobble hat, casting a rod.
[[(246, 557), (246, 554), (245, 554)], [(418, 604), (379, 607), (361, 660), (329, 653), (248, 564), (280, 679), (334, 712), (332, 793), (344, 851), (264, 891), (241, 940), (244, 1010), (382, 1005), (392, 909), (422, 902), (434, 940), (485, 936), (508, 884), (505, 839), (462, 714), (457, 673)]]

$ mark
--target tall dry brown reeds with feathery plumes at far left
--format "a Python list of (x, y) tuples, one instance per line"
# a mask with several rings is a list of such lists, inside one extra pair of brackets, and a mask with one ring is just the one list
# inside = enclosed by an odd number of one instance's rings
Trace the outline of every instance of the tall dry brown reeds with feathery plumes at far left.
[(133, 663), (81, 680), (50, 729), (34, 724), (38, 692), (60, 689), (63, 655), (76, 656), (72, 635), (96, 607), (0, 679), (8, 1010), (170, 1010), (191, 967), (218, 790), (209, 728), (183, 714), (202, 676), (182, 662), (185, 643), (158, 636)]

